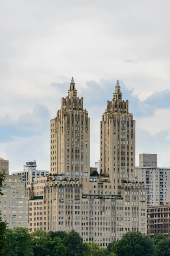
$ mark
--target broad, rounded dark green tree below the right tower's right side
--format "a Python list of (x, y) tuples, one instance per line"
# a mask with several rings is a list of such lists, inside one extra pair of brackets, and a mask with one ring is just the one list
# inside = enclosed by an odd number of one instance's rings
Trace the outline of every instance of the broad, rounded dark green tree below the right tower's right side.
[(152, 256), (154, 255), (154, 244), (149, 236), (130, 231), (113, 244), (112, 252), (118, 256)]

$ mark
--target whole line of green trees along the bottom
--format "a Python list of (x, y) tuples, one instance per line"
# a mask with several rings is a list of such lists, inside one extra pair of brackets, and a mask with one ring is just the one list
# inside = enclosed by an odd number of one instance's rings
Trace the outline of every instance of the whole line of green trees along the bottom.
[(0, 255), (3, 256), (170, 256), (170, 239), (162, 234), (154, 239), (140, 232), (130, 231), (107, 248), (97, 243), (84, 243), (72, 230), (35, 230), (28, 228), (7, 229), (0, 220)]

